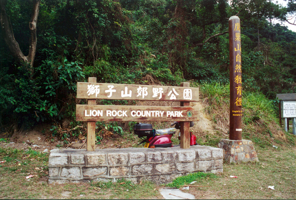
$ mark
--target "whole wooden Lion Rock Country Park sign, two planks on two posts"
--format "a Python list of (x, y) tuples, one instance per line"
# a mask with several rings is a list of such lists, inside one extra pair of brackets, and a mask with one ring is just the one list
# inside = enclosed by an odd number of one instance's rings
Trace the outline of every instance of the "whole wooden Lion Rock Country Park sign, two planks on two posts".
[[(190, 88), (189, 83), (174, 86), (125, 85), (77, 83), (77, 98), (88, 99), (87, 105), (76, 105), (76, 120), (87, 121), (87, 151), (95, 150), (96, 121), (180, 121), (183, 149), (189, 148), (189, 122), (198, 121), (196, 107), (190, 101), (199, 101), (199, 88)], [(166, 106), (110, 106), (96, 105), (96, 99), (181, 101), (181, 107)]]

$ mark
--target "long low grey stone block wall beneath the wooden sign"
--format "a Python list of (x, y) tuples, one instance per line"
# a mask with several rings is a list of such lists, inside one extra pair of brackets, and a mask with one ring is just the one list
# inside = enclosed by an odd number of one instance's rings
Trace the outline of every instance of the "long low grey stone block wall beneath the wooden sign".
[(223, 151), (210, 146), (190, 149), (126, 148), (126, 149), (53, 149), (49, 155), (49, 183), (117, 181), (125, 178), (133, 183), (151, 180), (170, 183), (190, 172), (223, 172)]

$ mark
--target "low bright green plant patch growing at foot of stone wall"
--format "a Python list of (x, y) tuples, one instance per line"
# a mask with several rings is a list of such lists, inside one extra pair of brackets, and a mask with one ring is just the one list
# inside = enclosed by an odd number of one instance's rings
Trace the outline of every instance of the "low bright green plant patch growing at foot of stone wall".
[(167, 187), (180, 187), (182, 185), (186, 185), (191, 183), (192, 181), (199, 181), (201, 179), (205, 179), (205, 178), (218, 178), (217, 175), (212, 174), (212, 173), (204, 173), (204, 172), (195, 172), (195, 173), (191, 173), (189, 175), (186, 176), (180, 176), (176, 179), (173, 180), (172, 183), (168, 183), (166, 184)]

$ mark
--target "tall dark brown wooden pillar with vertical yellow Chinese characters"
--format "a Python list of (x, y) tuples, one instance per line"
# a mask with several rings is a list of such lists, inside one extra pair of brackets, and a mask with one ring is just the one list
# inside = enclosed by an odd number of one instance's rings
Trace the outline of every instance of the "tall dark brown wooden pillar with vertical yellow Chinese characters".
[(229, 18), (230, 118), (229, 139), (242, 140), (242, 46), (240, 20)]

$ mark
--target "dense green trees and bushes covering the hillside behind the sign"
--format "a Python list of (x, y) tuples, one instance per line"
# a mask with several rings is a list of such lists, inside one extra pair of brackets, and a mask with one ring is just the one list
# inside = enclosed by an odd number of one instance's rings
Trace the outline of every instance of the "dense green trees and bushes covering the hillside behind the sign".
[[(6, 4), (14, 36), (25, 55), (31, 6), (30, 1), (21, 0)], [(0, 32), (1, 129), (12, 121), (31, 126), (41, 121), (56, 124), (62, 118), (70, 118), (71, 126), (77, 126), (81, 122), (75, 121), (76, 83), (88, 77), (101, 83), (174, 86), (193, 80), (202, 84), (202, 93), (208, 95), (207, 110), (213, 119), (223, 120), (225, 117), (213, 110), (229, 101), (229, 36), (207, 39), (225, 33), (226, 18), (238, 12), (242, 23), (243, 108), (244, 116), (248, 115), (244, 123), (274, 119), (272, 102), (263, 95), (274, 99), (276, 93), (296, 92), (296, 33), (266, 19), (283, 20), (294, 11), (292, 1), (287, 9), (266, 0), (90, 0), (70, 1), (68, 6), (66, 1), (42, 1), (33, 77), (28, 66), (15, 62)], [(256, 91), (261, 94), (252, 96)], [(251, 108), (251, 104), (258, 104), (258, 108)], [(98, 127), (100, 134), (123, 134), (116, 123)], [(55, 136), (58, 132), (52, 128)], [(73, 134), (78, 136), (80, 130)]]

